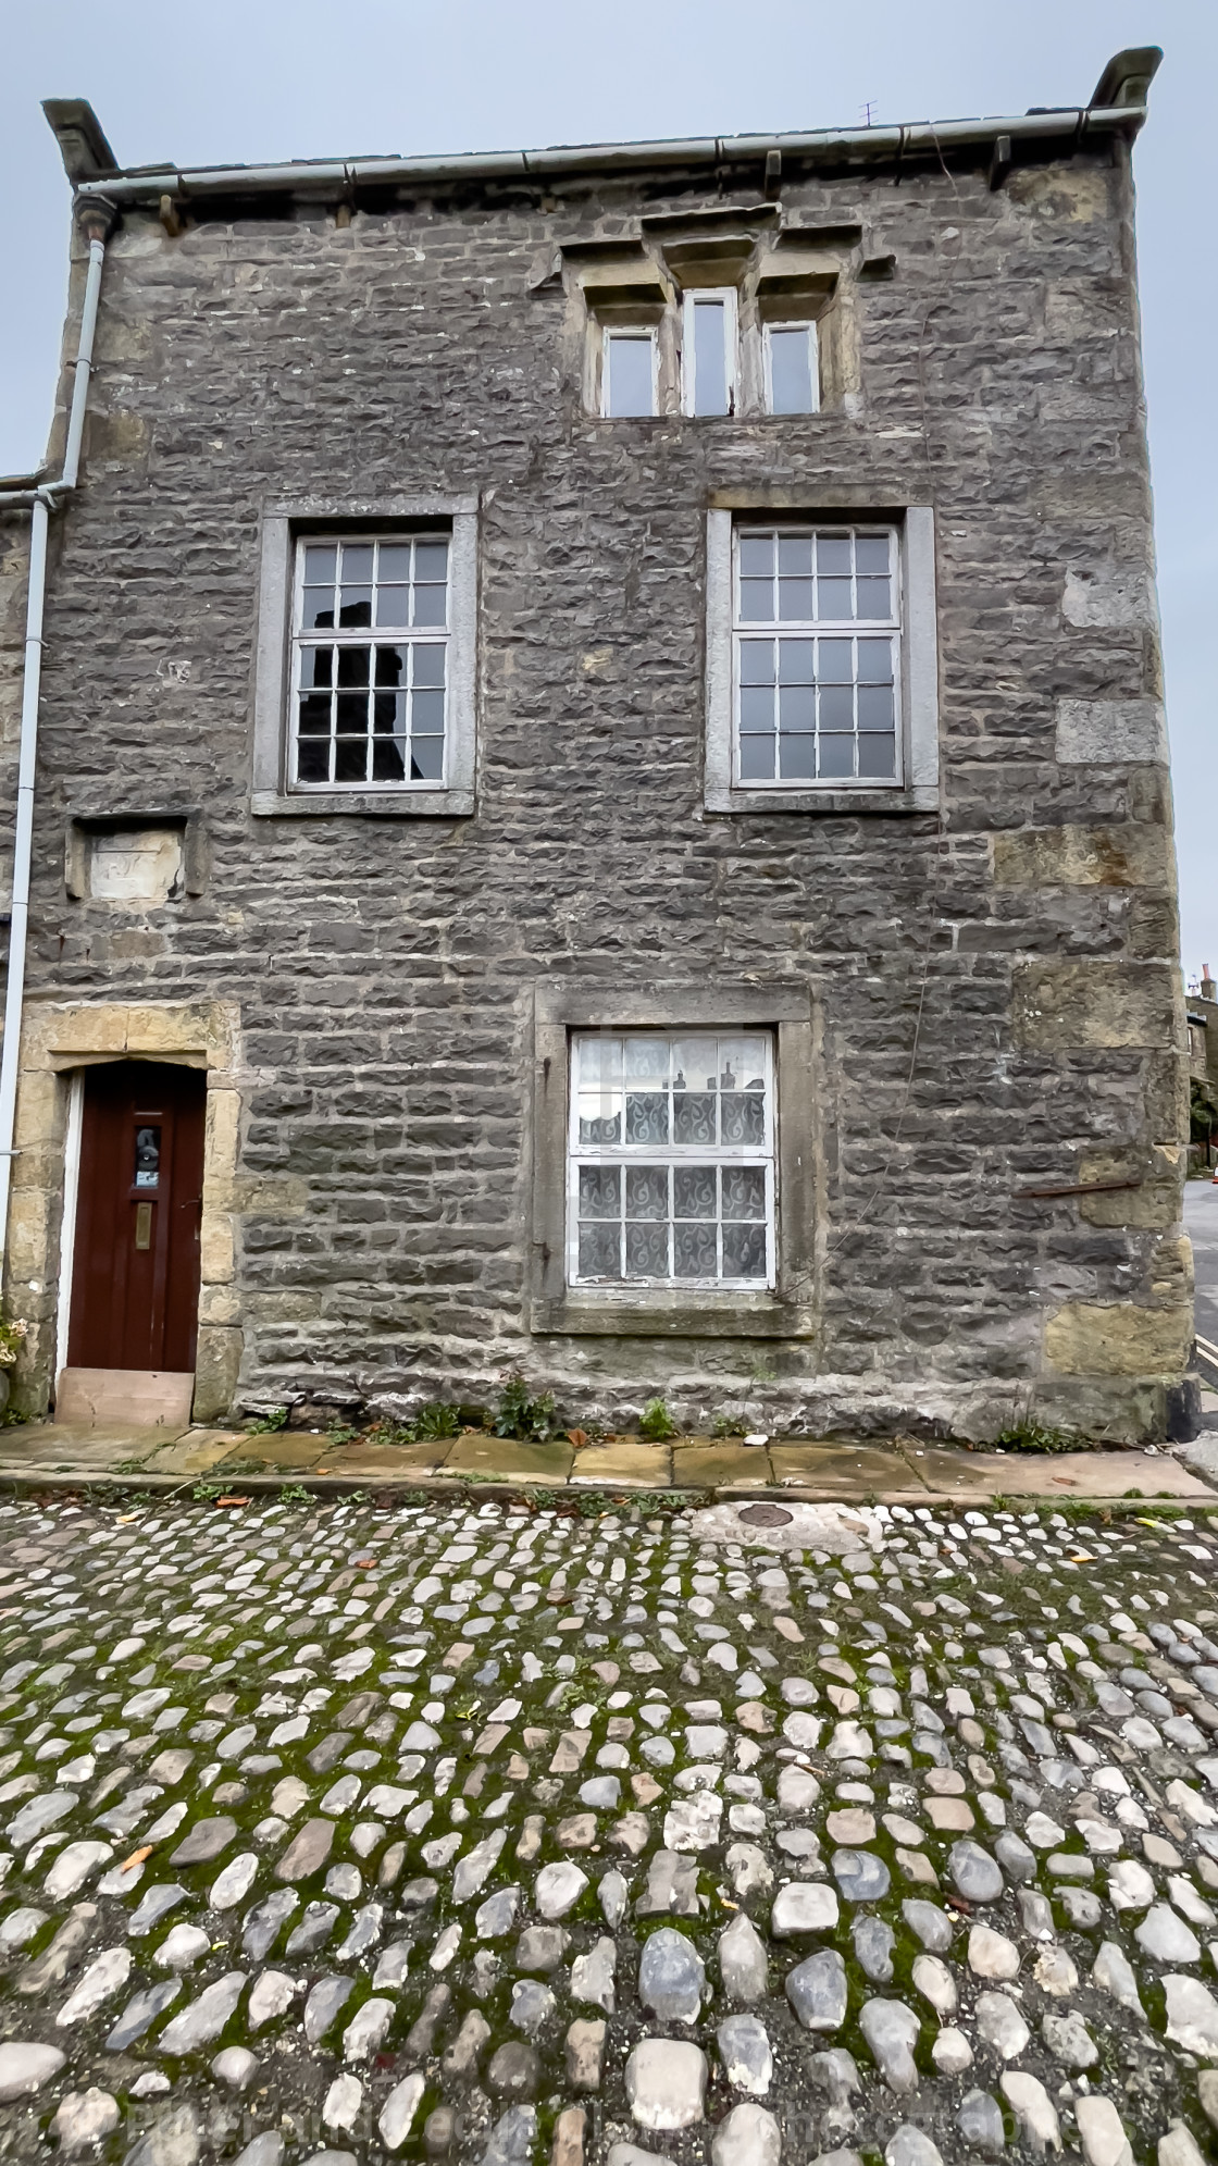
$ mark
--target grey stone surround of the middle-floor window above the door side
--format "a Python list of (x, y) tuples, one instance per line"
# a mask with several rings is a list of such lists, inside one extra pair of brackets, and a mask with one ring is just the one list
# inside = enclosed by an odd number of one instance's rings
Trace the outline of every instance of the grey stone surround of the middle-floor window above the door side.
[[(296, 691), (296, 546), (312, 539), (394, 542), (422, 526), (448, 533), (448, 684), (443, 782), (303, 784), (292, 782)], [(385, 635), (392, 628), (385, 626)], [(368, 641), (374, 632), (363, 632)], [(314, 496), (262, 511), (257, 652), (253, 671), (255, 817), (467, 817), (474, 812), (478, 689), (478, 498), (476, 496)]]

